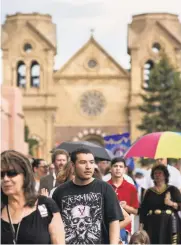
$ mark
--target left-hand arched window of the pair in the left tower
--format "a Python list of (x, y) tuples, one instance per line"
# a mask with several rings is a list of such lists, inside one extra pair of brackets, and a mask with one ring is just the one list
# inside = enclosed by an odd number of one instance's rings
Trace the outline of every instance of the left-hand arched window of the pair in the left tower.
[(17, 64), (17, 86), (26, 87), (26, 65), (23, 61), (19, 61)]

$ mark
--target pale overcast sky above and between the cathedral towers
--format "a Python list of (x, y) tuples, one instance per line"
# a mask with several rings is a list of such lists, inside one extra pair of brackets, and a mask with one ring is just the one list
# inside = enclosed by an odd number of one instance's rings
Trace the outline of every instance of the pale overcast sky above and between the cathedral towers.
[(7, 14), (39, 12), (52, 15), (57, 25), (57, 56), (60, 68), (90, 37), (124, 68), (129, 67), (127, 25), (134, 14), (169, 12), (181, 20), (181, 0), (1, 0), (1, 22)]

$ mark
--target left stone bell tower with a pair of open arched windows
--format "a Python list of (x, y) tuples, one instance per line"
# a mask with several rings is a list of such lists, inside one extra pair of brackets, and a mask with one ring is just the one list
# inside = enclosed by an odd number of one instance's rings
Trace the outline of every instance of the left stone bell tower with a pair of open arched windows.
[(49, 157), (56, 111), (53, 66), (56, 27), (50, 15), (9, 15), (2, 26), (3, 85), (19, 87), (30, 137), (38, 141), (37, 156)]

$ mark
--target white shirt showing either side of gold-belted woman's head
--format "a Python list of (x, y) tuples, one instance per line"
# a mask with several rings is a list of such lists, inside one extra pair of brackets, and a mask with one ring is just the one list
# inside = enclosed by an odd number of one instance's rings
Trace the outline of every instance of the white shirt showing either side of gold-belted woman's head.
[[(173, 185), (177, 187), (179, 190), (181, 189), (181, 174), (175, 167), (171, 165), (167, 165), (168, 172), (170, 174), (169, 176), (169, 185)], [(145, 173), (144, 181), (142, 184), (142, 187), (145, 189), (151, 188), (154, 186), (154, 182), (151, 178), (151, 169), (147, 170), (147, 173)]]

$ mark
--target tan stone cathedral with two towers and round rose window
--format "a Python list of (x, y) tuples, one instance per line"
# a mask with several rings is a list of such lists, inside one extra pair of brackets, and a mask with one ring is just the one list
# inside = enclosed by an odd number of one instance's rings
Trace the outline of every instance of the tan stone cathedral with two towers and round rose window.
[(162, 49), (181, 71), (181, 23), (168, 13), (133, 16), (128, 25), (129, 71), (93, 36), (54, 70), (56, 25), (50, 15), (8, 15), (1, 48), (3, 85), (21, 89), (30, 137), (38, 141), (38, 156), (49, 159), (50, 150), (63, 141), (103, 144), (105, 135), (130, 132), (132, 141), (141, 135), (141, 86), (146, 86)]

